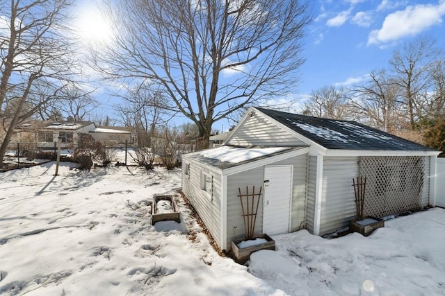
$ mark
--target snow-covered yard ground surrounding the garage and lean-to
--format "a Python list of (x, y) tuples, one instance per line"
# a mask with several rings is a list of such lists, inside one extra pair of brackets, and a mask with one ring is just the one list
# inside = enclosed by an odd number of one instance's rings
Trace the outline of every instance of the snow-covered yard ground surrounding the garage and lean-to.
[(277, 251), (246, 267), (216, 254), (180, 198), (180, 224), (150, 225), (147, 201), (177, 194), (180, 170), (73, 167), (0, 173), (0, 295), (445, 295), (444, 209), (368, 238), (273, 236)]

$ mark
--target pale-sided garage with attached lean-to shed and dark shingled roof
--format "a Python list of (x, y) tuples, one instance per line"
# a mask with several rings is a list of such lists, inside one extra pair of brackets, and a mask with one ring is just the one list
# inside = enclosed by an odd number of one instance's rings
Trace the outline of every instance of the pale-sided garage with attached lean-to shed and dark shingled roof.
[(251, 107), (223, 147), (183, 155), (184, 194), (218, 245), (242, 239), (239, 191), (262, 187), (257, 233), (327, 234), (355, 218), (353, 178), (367, 178), (365, 214), (434, 204), (439, 152), (353, 121)]

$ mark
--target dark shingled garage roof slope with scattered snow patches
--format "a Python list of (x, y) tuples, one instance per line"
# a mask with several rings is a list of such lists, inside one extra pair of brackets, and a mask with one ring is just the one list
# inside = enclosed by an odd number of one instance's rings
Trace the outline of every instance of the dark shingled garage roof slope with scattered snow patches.
[(434, 151), (432, 148), (355, 121), (323, 119), (264, 108), (256, 109), (327, 149)]

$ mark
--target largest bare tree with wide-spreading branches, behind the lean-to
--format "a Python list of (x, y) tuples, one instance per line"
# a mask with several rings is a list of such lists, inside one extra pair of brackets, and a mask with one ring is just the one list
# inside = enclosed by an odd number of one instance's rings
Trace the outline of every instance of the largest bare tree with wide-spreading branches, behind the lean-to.
[(109, 8), (119, 34), (96, 66), (111, 78), (159, 85), (170, 110), (197, 125), (203, 147), (213, 122), (296, 87), (311, 21), (303, 1), (134, 0)]

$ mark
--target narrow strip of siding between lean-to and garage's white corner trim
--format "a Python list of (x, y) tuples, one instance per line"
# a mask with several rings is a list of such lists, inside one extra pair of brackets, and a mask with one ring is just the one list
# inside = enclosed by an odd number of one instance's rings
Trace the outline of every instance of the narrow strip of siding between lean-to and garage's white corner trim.
[(314, 233), (317, 157), (314, 155), (309, 156), (307, 163), (308, 171), (305, 220), (307, 230)]

